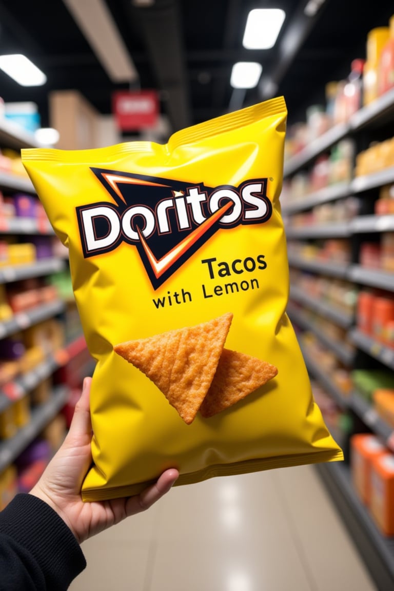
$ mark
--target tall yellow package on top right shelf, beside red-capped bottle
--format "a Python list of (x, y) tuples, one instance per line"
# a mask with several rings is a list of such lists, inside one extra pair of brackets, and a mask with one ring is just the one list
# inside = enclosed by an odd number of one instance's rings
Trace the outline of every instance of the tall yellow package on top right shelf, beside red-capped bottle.
[(382, 49), (389, 39), (389, 27), (376, 27), (367, 35), (366, 63), (363, 70), (363, 104), (370, 105), (379, 96), (378, 71)]

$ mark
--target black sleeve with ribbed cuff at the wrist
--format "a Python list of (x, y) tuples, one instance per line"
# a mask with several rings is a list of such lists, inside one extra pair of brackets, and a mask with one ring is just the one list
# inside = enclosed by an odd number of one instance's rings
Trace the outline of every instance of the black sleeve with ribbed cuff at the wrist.
[(85, 567), (70, 528), (41, 499), (18, 494), (0, 512), (0, 591), (63, 591)]

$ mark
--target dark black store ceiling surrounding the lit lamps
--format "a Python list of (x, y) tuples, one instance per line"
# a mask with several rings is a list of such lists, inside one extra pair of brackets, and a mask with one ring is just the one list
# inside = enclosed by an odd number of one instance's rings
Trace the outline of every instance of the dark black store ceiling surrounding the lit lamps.
[[(388, 25), (394, 13), (387, 0), (325, 0), (307, 17), (306, 4), (155, 0), (151, 7), (135, 7), (133, 0), (107, 0), (139, 74), (138, 83), (130, 85), (111, 82), (63, 0), (0, 0), (0, 54), (24, 53), (47, 75), (44, 86), (22, 87), (0, 72), (0, 96), (5, 102), (36, 102), (46, 126), (51, 90), (77, 89), (108, 114), (114, 90), (154, 88), (175, 131), (272, 96), (266, 92), (269, 80), (274, 95), (285, 96), (292, 123), (304, 119), (308, 105), (324, 102), (325, 83), (347, 76), (351, 60), (365, 57), (368, 31)], [(286, 12), (276, 46), (244, 49), (249, 10), (270, 7)], [(230, 72), (236, 61), (261, 62), (256, 89), (233, 92)]]

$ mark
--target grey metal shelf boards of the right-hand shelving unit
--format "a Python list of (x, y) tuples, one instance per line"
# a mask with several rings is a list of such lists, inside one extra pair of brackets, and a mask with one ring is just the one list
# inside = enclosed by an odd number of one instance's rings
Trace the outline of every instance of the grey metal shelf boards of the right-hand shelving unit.
[[(319, 141), (312, 142), (306, 150), (289, 160), (285, 164), (285, 176), (289, 177), (298, 170), (307, 167), (315, 157), (327, 151), (333, 145), (331, 144), (333, 138), (335, 138), (335, 141), (349, 135), (356, 138), (359, 131), (362, 130), (365, 132), (368, 129), (375, 129), (378, 125), (382, 126), (389, 118), (392, 121), (394, 120), (394, 89), (377, 99), (371, 105), (360, 109), (359, 112), (351, 117), (349, 125), (345, 128), (333, 128), (330, 130), (331, 135), (324, 134), (323, 137), (319, 138)], [(353, 194), (357, 194), (360, 199), (363, 199), (363, 194), (366, 191), (375, 190), (389, 183), (394, 183), (394, 167), (364, 177), (356, 177), (350, 183), (345, 183), (341, 187), (327, 187), (327, 189), (322, 189), (305, 196), (302, 202), (290, 202), (283, 207), (283, 214), (284, 216), (291, 216), (295, 213), (311, 209), (321, 203), (343, 199)], [(350, 239), (357, 237), (359, 241), (360, 235), (362, 236), (363, 233), (394, 232), (394, 216), (357, 216), (347, 222), (347, 225), (349, 230), (347, 236)], [(321, 226), (308, 226), (304, 228), (289, 227), (286, 230), (286, 235), (292, 240), (328, 238), (339, 235), (334, 233), (329, 234), (328, 232), (330, 232), (329, 228), (322, 228)], [(343, 235), (345, 235), (345, 232)], [(358, 242), (354, 240), (354, 244), (356, 243)], [(338, 267), (334, 264), (327, 265), (320, 261), (302, 259), (300, 256), (294, 256), (289, 253), (289, 265), (320, 275), (343, 278), (360, 287), (370, 286), (394, 292), (393, 273), (364, 268), (359, 264), (351, 264), (344, 268), (343, 266)], [(302, 293), (301, 290), (294, 290), (294, 286), (291, 287), (291, 298), (297, 301), (298, 304), (301, 304), (301, 306), (305, 306), (315, 313), (328, 317), (335, 322), (335, 318), (333, 316), (330, 318), (328, 315), (330, 313), (325, 309), (324, 302), (313, 301), (308, 294)], [(307, 319), (302, 315), (302, 310), (292, 310), (291, 304), (289, 306), (289, 316), (295, 322), (299, 323), (301, 329), (313, 330), (312, 323), (305, 322)], [(387, 368), (394, 369), (393, 349), (364, 335), (357, 330), (353, 323), (347, 326), (343, 325), (343, 327), (347, 329), (348, 338), (356, 350), (361, 350), (371, 358), (383, 363)], [(315, 335), (319, 336), (317, 332), (315, 332)], [(320, 341), (323, 342), (321, 339)], [(333, 349), (331, 348), (331, 350)], [(377, 414), (369, 401), (363, 398), (358, 392), (353, 391), (349, 397), (344, 397), (336, 387), (336, 384), (331, 381), (327, 372), (320, 368), (314, 358), (308, 354), (308, 350), (304, 348), (302, 352), (310, 375), (314, 376), (323, 385), (338, 406), (343, 410), (350, 410), (354, 415), (359, 417), (364, 425), (385, 441), (388, 449), (394, 453), (393, 427), (386, 423)], [(337, 505), (338, 511), (353, 536), (366, 566), (372, 574), (373, 579), (375, 579), (377, 587), (382, 589), (382, 591), (394, 589), (394, 538), (387, 538), (380, 534), (368, 509), (360, 502), (356, 492), (354, 492), (349, 466), (346, 463), (334, 462), (317, 465), (316, 469)]]

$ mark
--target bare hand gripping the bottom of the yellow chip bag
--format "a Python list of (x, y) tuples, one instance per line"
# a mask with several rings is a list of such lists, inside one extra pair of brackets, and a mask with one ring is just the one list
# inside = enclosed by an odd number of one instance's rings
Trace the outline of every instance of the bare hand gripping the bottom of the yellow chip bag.
[(92, 463), (89, 395), (92, 378), (83, 381), (70, 430), (64, 443), (46, 467), (31, 495), (45, 501), (69, 526), (79, 543), (122, 519), (145, 511), (167, 493), (177, 480), (176, 469), (165, 470), (157, 482), (139, 495), (111, 501), (83, 502), (81, 487)]

